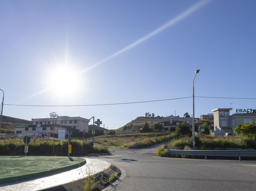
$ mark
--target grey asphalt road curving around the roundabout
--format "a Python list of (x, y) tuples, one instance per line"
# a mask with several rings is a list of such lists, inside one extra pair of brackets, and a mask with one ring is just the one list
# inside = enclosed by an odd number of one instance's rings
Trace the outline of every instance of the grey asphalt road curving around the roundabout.
[(157, 146), (113, 149), (111, 155), (89, 157), (120, 168), (119, 180), (104, 191), (256, 191), (256, 162), (162, 158)]

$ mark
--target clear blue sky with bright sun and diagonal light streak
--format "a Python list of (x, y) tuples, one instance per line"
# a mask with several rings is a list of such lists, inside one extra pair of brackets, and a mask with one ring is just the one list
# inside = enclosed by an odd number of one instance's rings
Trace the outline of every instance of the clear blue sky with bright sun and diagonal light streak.
[[(173, 19), (173, 25), (115, 55)], [(195, 96), (255, 98), (255, 20), (253, 0), (1, 1), (4, 104), (85, 105), (189, 97), (196, 69), (200, 72)], [(111, 55), (115, 56), (105, 60)], [(94, 115), (105, 127), (116, 129), (145, 112), (193, 114), (192, 101), (4, 105), (3, 115), (27, 120), (51, 112)], [(195, 116), (230, 103), (231, 113), (256, 109), (256, 100), (195, 98)]]

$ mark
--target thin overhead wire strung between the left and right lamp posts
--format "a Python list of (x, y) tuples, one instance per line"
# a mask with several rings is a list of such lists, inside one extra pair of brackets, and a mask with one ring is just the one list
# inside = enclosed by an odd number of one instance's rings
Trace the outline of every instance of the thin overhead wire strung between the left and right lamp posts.
[(183, 97), (183, 98), (165, 99), (165, 100), (153, 100), (153, 101), (141, 101), (141, 102), (127, 102), (127, 103), (94, 104), (94, 105), (18, 105), (18, 104), (4, 104), (4, 105), (15, 105), (15, 106), (38, 106), (38, 107), (97, 106), (97, 105), (120, 105), (120, 104), (131, 104), (131, 103), (157, 102), (157, 101), (167, 101), (167, 100), (178, 100), (178, 99), (184, 99), (184, 98), (192, 98), (192, 96), (190, 96), (190, 97)]

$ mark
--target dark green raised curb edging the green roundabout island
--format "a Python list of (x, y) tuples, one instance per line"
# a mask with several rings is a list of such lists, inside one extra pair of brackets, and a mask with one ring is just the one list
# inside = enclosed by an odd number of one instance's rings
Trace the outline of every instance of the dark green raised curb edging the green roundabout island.
[(20, 176), (13, 176), (13, 177), (8, 177), (8, 178), (0, 178), (0, 184), (26, 180), (26, 179), (29, 179), (29, 178), (37, 178), (37, 177), (40, 177), (40, 176), (58, 174), (58, 173), (61, 173), (61, 172), (66, 172), (66, 171), (78, 168), (78, 167), (84, 165), (85, 163), (86, 163), (86, 160), (84, 160), (80, 163), (77, 163), (77, 164), (73, 164), (73, 165), (65, 166), (65, 167), (61, 167), (61, 168), (55, 168), (55, 169), (49, 170), (49, 171), (43, 171), (43, 172), (32, 173), (32, 174), (25, 174), (25, 175), (20, 175)]

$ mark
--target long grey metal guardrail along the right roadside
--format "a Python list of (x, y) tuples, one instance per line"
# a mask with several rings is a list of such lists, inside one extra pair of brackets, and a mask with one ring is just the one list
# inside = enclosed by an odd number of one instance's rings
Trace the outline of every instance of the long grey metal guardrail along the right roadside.
[[(167, 149), (165, 149), (167, 150)], [(218, 157), (256, 157), (256, 150), (168, 150), (172, 155), (218, 156)]]

